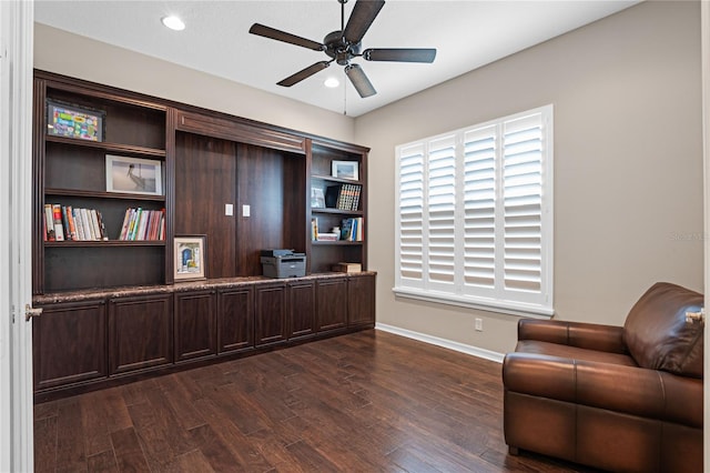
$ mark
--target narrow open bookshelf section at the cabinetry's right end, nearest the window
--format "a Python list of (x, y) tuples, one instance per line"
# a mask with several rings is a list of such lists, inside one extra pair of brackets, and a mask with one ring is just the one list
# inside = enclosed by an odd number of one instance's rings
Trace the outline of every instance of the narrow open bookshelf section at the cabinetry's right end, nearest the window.
[[(336, 175), (336, 167), (347, 174)], [(361, 263), (366, 270), (366, 219), (367, 214), (367, 152), (358, 147), (329, 141), (312, 140), (311, 143), (311, 195), (322, 193), (325, 207), (310, 205), (310, 220), (317, 222), (317, 232), (311, 230), (311, 272), (328, 272), (339, 262)], [(349, 194), (349, 195), (348, 195)], [(341, 204), (341, 202), (343, 202)], [(343, 233), (346, 221), (357, 220), (362, 231), (359, 239), (349, 239)], [(339, 229), (337, 240), (320, 240), (317, 233), (333, 233)]]

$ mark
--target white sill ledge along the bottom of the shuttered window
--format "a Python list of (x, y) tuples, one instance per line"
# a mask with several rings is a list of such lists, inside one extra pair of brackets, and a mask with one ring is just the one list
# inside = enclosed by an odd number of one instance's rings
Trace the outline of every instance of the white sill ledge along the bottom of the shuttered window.
[(462, 296), (445, 293), (424, 292), (410, 288), (393, 288), (396, 296), (415, 299), (418, 301), (434, 302), (438, 304), (456, 305), (459, 308), (477, 309), (487, 312), (497, 312), (508, 315), (527, 316), (534, 319), (551, 319), (555, 309), (523, 302), (496, 301), (485, 298)]

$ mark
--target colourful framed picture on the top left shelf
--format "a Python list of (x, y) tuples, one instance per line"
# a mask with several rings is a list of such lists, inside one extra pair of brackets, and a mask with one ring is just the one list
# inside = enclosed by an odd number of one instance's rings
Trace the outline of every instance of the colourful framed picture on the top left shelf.
[(47, 101), (47, 133), (54, 137), (103, 141), (105, 112)]

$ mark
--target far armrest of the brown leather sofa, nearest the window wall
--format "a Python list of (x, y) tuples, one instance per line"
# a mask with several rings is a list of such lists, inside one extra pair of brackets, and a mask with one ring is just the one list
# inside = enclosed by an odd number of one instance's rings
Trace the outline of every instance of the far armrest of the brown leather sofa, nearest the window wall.
[(596, 323), (557, 320), (520, 319), (518, 340), (538, 340), (587, 350), (628, 353), (623, 344), (623, 328)]

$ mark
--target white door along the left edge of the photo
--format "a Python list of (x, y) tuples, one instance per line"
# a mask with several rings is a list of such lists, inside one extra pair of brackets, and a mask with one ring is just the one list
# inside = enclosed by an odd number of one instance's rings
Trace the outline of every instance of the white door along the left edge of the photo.
[(33, 469), (32, 1), (0, 0), (0, 471)]

